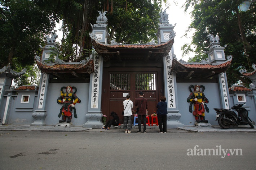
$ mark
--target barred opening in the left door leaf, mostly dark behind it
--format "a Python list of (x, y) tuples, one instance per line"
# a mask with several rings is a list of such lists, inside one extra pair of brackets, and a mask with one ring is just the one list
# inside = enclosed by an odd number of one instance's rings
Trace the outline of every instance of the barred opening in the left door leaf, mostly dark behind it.
[(111, 73), (110, 74), (110, 90), (130, 90), (131, 81), (130, 74)]

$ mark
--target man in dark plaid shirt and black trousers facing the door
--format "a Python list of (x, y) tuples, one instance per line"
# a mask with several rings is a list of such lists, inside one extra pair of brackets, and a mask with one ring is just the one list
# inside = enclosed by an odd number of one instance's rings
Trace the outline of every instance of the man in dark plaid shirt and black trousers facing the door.
[(137, 133), (141, 133), (141, 116), (143, 119), (143, 133), (146, 133), (146, 113), (147, 113), (147, 99), (143, 97), (143, 92), (139, 93), (139, 98), (135, 99), (134, 106), (140, 107), (140, 110), (137, 112), (138, 114), (138, 127), (139, 130)]

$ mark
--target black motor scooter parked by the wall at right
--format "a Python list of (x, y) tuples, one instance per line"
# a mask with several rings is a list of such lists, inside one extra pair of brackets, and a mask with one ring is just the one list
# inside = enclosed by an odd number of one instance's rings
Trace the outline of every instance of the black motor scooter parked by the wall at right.
[[(245, 103), (244, 103), (245, 104)], [(250, 125), (254, 128), (251, 119), (248, 117), (248, 111), (242, 107), (244, 104), (236, 104), (231, 109), (214, 109), (217, 112), (216, 120), (223, 129), (228, 129), (230, 126)], [(236, 114), (234, 111), (237, 111)]]

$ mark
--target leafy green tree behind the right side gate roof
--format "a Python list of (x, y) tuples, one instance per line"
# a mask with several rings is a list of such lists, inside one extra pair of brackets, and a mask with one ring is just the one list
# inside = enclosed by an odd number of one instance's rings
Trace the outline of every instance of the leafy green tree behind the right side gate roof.
[[(182, 47), (183, 55), (190, 51), (195, 57), (189, 61), (200, 61), (207, 58), (203, 51), (208, 51), (208, 34), (219, 35), (221, 46), (225, 48), (225, 55), (232, 55), (232, 65), (227, 71), (228, 83), (231, 86), (238, 80), (250, 84), (247, 78), (241, 76), (240, 69), (252, 71), (252, 63), (256, 62), (256, 2), (247, 11), (240, 11), (238, 6), (244, 0), (186, 0), (185, 12), (189, 6), (193, 7), (188, 31), (195, 30), (190, 44)], [(191, 46), (195, 46), (193, 49)]]

